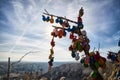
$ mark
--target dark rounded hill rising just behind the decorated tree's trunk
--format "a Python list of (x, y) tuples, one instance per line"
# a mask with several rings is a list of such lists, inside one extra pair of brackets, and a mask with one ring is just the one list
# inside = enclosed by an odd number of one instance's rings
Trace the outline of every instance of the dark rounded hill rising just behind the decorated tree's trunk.
[(52, 72), (42, 76), (49, 79), (52, 76), (52, 80), (59, 80), (63, 76), (66, 77), (65, 80), (82, 80), (84, 76), (89, 76), (90, 72), (90, 68), (84, 68), (80, 63), (68, 63), (55, 67)]

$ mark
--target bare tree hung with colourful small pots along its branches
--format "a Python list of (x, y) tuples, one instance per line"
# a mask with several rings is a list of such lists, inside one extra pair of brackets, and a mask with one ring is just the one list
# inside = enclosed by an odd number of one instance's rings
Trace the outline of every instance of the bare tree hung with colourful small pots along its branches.
[[(61, 27), (54, 26), (53, 31), (51, 32), (51, 36), (53, 37), (50, 44), (51, 44), (51, 49), (50, 49), (50, 55), (49, 59), (50, 61), (48, 62), (49, 64), (49, 71), (52, 70), (53, 66), (53, 61), (54, 61), (54, 46), (55, 46), (55, 41), (54, 38), (62, 38), (63, 36), (65, 37), (67, 32), (70, 33), (70, 40), (71, 40), (71, 45), (69, 46), (69, 51), (71, 51), (71, 56), (75, 58), (75, 60), (79, 60), (79, 53), (84, 51), (85, 57), (83, 57), (80, 62), (84, 64), (84, 67), (90, 66), (91, 69), (93, 70), (93, 73), (91, 75), (93, 80), (103, 80), (102, 76), (100, 75), (98, 68), (105, 68), (105, 62), (106, 59), (102, 56), (100, 56), (99, 50), (96, 52), (89, 52), (90, 50), (90, 45), (89, 45), (89, 38), (87, 37), (87, 32), (83, 30), (84, 25), (82, 22), (82, 16), (84, 14), (84, 10), (81, 7), (79, 10), (78, 14), (78, 20), (73, 21), (70, 19), (67, 19), (66, 17), (61, 17), (61, 16), (56, 16), (53, 14), (49, 14), (47, 10), (42, 15), (42, 20), (44, 22), (50, 22), (51, 24), (56, 22), (61, 25)], [(47, 17), (45, 16), (47, 15)], [(56, 17), (56, 20), (53, 19), (53, 17)], [(74, 23), (74, 26), (71, 26), (70, 23)]]

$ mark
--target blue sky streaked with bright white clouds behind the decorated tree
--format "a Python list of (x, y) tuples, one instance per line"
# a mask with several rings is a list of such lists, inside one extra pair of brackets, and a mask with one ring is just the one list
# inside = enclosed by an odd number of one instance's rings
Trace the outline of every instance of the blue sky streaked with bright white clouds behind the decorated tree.
[[(84, 8), (84, 30), (90, 39), (91, 51), (98, 47), (102, 56), (120, 50), (120, 0), (0, 0), (0, 61), (48, 61), (52, 25), (42, 21), (44, 9), (49, 13), (77, 20)], [(56, 25), (56, 24), (54, 24)], [(74, 25), (74, 24), (71, 24)], [(75, 61), (68, 51), (66, 38), (55, 39), (55, 61)], [(39, 51), (39, 52), (36, 52)], [(81, 53), (84, 54), (84, 53)]]

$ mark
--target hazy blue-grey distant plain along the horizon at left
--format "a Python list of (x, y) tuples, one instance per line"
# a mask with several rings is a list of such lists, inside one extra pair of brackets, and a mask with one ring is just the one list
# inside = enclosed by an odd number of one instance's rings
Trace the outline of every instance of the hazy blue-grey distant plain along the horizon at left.
[[(60, 66), (61, 64), (71, 63), (71, 62), (54, 62), (54, 66)], [(11, 62), (12, 64), (12, 62)], [(0, 62), (0, 76), (7, 74), (7, 62)], [(11, 66), (11, 73), (24, 74), (25, 72), (43, 72), (46, 73), (48, 70), (48, 62), (20, 62)]]

